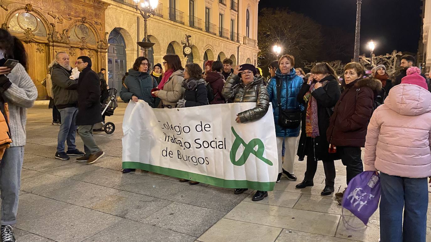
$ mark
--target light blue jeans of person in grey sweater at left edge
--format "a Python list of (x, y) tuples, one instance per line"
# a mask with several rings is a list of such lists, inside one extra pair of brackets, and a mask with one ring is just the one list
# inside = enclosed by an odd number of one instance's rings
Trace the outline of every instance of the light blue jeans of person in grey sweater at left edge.
[(1, 225), (16, 224), (24, 146), (6, 149), (0, 162)]

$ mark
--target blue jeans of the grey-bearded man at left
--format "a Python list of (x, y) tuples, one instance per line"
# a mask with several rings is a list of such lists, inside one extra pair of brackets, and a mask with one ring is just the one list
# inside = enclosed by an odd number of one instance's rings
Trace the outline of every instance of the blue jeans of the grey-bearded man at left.
[(75, 137), (78, 126), (75, 124), (77, 107), (66, 107), (59, 109), (61, 116), (61, 126), (57, 138), (57, 152), (64, 152), (67, 143), (67, 150), (76, 150)]

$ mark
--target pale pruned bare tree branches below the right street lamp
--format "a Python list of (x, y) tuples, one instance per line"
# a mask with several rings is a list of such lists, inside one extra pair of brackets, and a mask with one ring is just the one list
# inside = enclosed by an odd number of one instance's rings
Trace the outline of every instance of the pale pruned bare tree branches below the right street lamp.
[[(400, 57), (403, 56), (402, 52), (398, 52), (396, 49), (392, 51), (391, 54), (387, 53), (386, 55), (373, 55), (373, 64), (377, 65), (385, 65), (386, 72), (388, 75), (392, 76), (397, 73), (400, 69)], [(370, 69), (371, 66), (371, 58), (366, 57), (365, 54), (359, 56), (359, 62), (365, 66), (365, 68)]]

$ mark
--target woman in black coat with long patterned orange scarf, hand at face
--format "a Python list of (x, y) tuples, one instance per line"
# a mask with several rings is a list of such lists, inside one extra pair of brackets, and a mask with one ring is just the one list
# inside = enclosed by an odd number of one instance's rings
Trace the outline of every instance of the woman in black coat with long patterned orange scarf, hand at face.
[(304, 83), (297, 96), (298, 101), (306, 107), (297, 155), (299, 160), (304, 160), (304, 156), (307, 156), (307, 170), (304, 180), (296, 187), (305, 188), (314, 185), (313, 178), (317, 170), (317, 162), (322, 160), (326, 179), (321, 195), (326, 196), (334, 192), (334, 159), (337, 159), (335, 153), (328, 152), (326, 130), (329, 127), (332, 108), (340, 98), (340, 89), (337, 75), (327, 63), (315, 65), (311, 73), (314, 79)]

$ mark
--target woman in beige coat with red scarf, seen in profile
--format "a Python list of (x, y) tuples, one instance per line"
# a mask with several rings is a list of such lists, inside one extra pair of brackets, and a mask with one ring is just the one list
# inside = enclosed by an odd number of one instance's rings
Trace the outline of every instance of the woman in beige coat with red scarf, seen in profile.
[(178, 55), (165, 55), (163, 60), (166, 72), (151, 94), (162, 100), (159, 105), (161, 108), (174, 108), (178, 100), (183, 98), (184, 87), (181, 84), (184, 81), (184, 68)]

